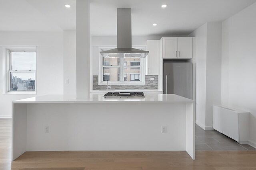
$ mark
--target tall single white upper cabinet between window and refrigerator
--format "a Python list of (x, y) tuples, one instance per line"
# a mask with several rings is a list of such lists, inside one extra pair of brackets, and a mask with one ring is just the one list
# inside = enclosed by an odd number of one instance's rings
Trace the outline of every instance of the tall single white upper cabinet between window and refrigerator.
[(160, 74), (160, 40), (148, 40), (146, 57), (146, 75)]

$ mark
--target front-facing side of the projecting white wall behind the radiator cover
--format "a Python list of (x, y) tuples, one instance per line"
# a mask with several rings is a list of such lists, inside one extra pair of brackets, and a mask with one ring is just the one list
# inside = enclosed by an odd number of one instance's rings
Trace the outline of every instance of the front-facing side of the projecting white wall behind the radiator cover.
[(212, 129), (212, 105), (221, 104), (222, 23), (207, 23), (206, 129)]

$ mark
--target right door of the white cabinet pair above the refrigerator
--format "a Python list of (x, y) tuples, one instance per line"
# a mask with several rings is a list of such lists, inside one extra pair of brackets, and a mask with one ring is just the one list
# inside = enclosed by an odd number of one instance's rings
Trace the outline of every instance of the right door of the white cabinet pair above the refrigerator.
[(192, 59), (193, 38), (178, 37), (178, 59)]

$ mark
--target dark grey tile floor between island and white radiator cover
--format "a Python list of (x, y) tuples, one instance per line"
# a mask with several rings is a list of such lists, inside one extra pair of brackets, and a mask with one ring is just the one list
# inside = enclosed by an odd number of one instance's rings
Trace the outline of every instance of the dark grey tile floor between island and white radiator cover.
[(195, 134), (196, 150), (256, 150), (250, 145), (241, 145), (218, 131), (204, 131), (198, 125)]

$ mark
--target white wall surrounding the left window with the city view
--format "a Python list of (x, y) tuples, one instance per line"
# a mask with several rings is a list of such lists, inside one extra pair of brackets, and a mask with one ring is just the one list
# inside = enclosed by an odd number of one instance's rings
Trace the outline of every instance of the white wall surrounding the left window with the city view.
[[(37, 94), (5, 94), (3, 47), (36, 46)], [(63, 94), (63, 33), (0, 31), (0, 117), (11, 117), (11, 102), (45, 94)]]

